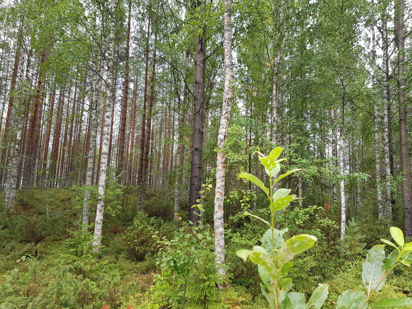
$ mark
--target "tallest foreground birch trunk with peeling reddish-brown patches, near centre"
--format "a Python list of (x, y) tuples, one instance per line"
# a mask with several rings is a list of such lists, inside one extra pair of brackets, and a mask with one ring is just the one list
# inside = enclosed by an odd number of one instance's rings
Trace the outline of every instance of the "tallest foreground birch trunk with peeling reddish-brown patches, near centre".
[[(229, 126), (230, 110), (232, 108), (232, 0), (224, 0), (225, 14), (223, 20), (223, 61), (225, 64), (225, 84), (223, 89), (222, 115), (218, 132), (218, 154), (216, 156), (216, 190), (215, 212), (213, 215), (215, 228), (216, 271), (225, 275), (225, 229), (223, 227), (223, 201), (225, 199), (225, 153), (223, 151)], [(223, 285), (219, 284), (219, 288)]]

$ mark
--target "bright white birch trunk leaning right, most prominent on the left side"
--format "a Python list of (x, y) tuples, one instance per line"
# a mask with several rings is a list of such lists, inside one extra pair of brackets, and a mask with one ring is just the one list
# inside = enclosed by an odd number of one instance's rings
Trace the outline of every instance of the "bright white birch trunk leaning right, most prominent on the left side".
[[(110, 37), (109, 37), (109, 50), (107, 57), (107, 79), (106, 79), (106, 91), (107, 97), (113, 96), (113, 49), (115, 38), (115, 10), (117, 2), (112, 0), (111, 5), (111, 23), (110, 23)], [(104, 214), (104, 193), (106, 187), (106, 171), (108, 164), (108, 152), (109, 152), (109, 138), (110, 138), (110, 125), (112, 118), (112, 101), (106, 100), (105, 113), (104, 113), (104, 125), (103, 125), (103, 139), (100, 171), (98, 180), (98, 199), (96, 208), (96, 220), (94, 222), (94, 234), (93, 234), (93, 246), (94, 252), (97, 252), (101, 243), (102, 226), (103, 226), (103, 214)]]

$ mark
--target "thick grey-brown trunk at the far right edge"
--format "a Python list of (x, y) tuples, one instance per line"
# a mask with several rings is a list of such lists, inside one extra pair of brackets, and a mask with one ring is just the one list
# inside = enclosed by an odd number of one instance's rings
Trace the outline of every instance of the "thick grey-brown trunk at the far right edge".
[(403, 217), (405, 236), (412, 236), (412, 190), (411, 169), (409, 157), (409, 133), (407, 118), (407, 103), (405, 93), (405, 36), (403, 21), (405, 15), (405, 0), (395, 1), (395, 41), (398, 49), (398, 104), (399, 104), (399, 142), (400, 142), (400, 171), (404, 172), (402, 182)]

